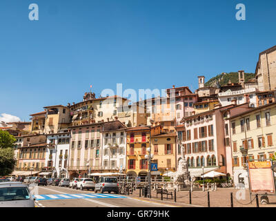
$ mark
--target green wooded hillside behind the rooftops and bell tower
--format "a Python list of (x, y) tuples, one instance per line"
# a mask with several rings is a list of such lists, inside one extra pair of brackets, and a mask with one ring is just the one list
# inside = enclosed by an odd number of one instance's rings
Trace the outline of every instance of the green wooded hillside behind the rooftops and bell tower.
[[(249, 79), (255, 78), (254, 73), (244, 73), (244, 80), (247, 82)], [(205, 86), (214, 86), (215, 82), (219, 80), (219, 84), (221, 86), (224, 86), (228, 84), (228, 81), (230, 79), (231, 83), (238, 83), (239, 82), (239, 75), (237, 72), (230, 72), (226, 73), (226, 75), (220, 74), (216, 77), (212, 77), (210, 80), (208, 80), (205, 84)]]

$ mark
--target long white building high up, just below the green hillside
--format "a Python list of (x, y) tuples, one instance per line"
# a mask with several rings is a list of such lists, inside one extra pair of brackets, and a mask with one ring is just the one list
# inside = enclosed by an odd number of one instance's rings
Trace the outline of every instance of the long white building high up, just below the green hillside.
[(237, 105), (245, 104), (249, 102), (250, 107), (257, 107), (257, 96), (258, 90), (256, 88), (246, 88), (243, 90), (227, 90), (226, 92), (219, 93), (218, 99), (221, 106), (228, 106), (232, 100), (237, 101)]

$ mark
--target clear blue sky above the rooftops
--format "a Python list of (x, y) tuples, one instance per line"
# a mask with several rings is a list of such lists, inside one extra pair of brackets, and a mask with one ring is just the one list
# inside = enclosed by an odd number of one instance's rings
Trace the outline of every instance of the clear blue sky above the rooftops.
[[(28, 19), (37, 3), (39, 21)], [(237, 21), (237, 3), (246, 21)], [(222, 72), (255, 72), (276, 44), (276, 1), (2, 0), (0, 115), (28, 120), (90, 89), (197, 88)]]

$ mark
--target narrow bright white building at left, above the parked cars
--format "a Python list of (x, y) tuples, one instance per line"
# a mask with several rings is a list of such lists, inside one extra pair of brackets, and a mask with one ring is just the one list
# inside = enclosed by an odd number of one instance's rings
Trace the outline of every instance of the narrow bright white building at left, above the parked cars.
[(68, 177), (70, 132), (47, 135), (46, 166), (53, 169), (52, 177)]

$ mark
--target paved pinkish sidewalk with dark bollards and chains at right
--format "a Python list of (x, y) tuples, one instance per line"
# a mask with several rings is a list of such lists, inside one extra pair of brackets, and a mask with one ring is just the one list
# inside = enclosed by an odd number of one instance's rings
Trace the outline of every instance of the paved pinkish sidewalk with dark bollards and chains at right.
[[(244, 192), (242, 192), (244, 191)], [(233, 193), (233, 206), (234, 207), (257, 207), (255, 194), (252, 195), (252, 203), (250, 203), (250, 192), (249, 190), (239, 190), (234, 188), (218, 188), (217, 191), (210, 191), (210, 207), (230, 207), (230, 193)], [(237, 193), (237, 194), (236, 194)], [(245, 200), (238, 200), (239, 195), (245, 193)], [(208, 207), (207, 191), (193, 191), (192, 193), (192, 205), (189, 204), (189, 192), (188, 191), (177, 191), (177, 202), (174, 201), (174, 193), (172, 193), (172, 200), (170, 195), (163, 195), (163, 200), (161, 200), (161, 195), (156, 195), (156, 191), (152, 191), (152, 198), (144, 198), (141, 196), (139, 198), (139, 189), (129, 195), (130, 198), (137, 198), (141, 200), (148, 200), (154, 202), (160, 202), (163, 204), (170, 204), (175, 206), (204, 206)], [(237, 196), (237, 198), (236, 198)], [(261, 204), (261, 195), (259, 195), (259, 207), (276, 207), (276, 196), (268, 195), (268, 200), (270, 204)]]

